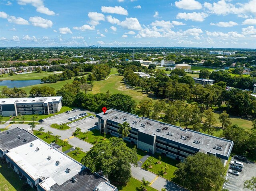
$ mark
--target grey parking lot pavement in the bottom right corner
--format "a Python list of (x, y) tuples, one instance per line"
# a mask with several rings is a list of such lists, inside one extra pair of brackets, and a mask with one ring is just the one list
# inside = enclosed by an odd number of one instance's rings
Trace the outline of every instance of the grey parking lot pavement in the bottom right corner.
[[(233, 161), (240, 161), (237, 159), (233, 159)], [(249, 189), (244, 189), (244, 181), (251, 179), (251, 177), (256, 176), (256, 163), (252, 161), (246, 160), (246, 162), (240, 161), (244, 163), (244, 167), (242, 172), (240, 172), (239, 176), (226, 173), (227, 183), (224, 184), (224, 188), (229, 191), (250, 191)]]

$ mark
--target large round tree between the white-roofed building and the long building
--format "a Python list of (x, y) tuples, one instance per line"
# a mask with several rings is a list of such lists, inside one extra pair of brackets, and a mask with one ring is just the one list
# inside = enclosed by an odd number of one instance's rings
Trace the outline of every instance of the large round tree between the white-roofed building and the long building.
[(136, 149), (128, 148), (122, 139), (112, 137), (94, 145), (81, 163), (92, 172), (101, 169), (112, 183), (125, 185), (132, 177), (130, 163), (137, 165), (137, 161)]

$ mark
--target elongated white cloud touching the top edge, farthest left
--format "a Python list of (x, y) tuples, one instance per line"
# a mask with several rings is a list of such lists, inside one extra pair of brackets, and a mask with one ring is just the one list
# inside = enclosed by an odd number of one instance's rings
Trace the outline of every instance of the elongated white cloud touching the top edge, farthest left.
[(42, 0), (18, 0), (18, 4), (31, 4), (36, 8), (36, 11), (39, 13), (43, 13), (46, 15), (55, 15), (53, 11), (49, 10), (47, 7), (44, 6), (44, 2)]

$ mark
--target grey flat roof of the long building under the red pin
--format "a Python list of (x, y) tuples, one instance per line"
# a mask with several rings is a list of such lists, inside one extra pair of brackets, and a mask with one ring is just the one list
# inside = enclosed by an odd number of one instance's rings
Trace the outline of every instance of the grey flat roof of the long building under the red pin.
[[(108, 120), (112, 120), (114, 122), (123, 123), (124, 118), (130, 124), (130, 127), (140, 130), (140, 132), (144, 132), (146, 134), (150, 134), (151, 136), (159, 136), (166, 138), (168, 140), (173, 140), (175, 142), (179, 142), (182, 144), (186, 144), (188, 146), (192, 146), (200, 150), (200, 152), (210, 152), (213, 154), (220, 154), (224, 156), (228, 156), (232, 149), (232, 141), (210, 136), (207, 134), (203, 134), (200, 132), (192, 131), (192, 130), (184, 130), (181, 127), (166, 124), (163, 122), (159, 122), (156, 120), (139, 117), (134, 114), (122, 112), (115, 109), (110, 109), (106, 111), (107, 115), (103, 112), (97, 114), (97, 117), (104, 118)], [(119, 118), (117, 119), (116, 117)], [(137, 124), (136, 124), (137, 123)], [(145, 125), (145, 127), (141, 126), (141, 124)], [(161, 132), (156, 131), (160, 129)], [(168, 135), (168, 132), (172, 133), (172, 136)], [(181, 136), (186, 136), (186, 140), (182, 139)], [(200, 144), (194, 143), (194, 141), (200, 141)], [(214, 149), (214, 146), (221, 146), (222, 150)]]

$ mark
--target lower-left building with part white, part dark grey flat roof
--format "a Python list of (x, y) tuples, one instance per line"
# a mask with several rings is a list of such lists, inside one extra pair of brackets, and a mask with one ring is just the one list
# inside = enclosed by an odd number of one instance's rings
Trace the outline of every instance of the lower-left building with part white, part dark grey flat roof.
[(24, 129), (0, 132), (0, 158), (37, 191), (118, 191), (108, 179)]

